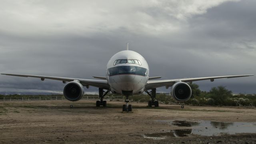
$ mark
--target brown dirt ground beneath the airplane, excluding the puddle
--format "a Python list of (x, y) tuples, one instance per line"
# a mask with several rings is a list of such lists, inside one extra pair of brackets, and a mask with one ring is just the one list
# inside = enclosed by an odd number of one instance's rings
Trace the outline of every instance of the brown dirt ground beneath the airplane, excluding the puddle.
[[(71, 109), (69, 106), (73, 104)], [(96, 100), (0, 102), (0, 144), (256, 144), (256, 134), (221, 136), (144, 138), (144, 134), (181, 129), (158, 120), (211, 120), (256, 122), (255, 107), (210, 107), (131, 102), (133, 112), (122, 112), (124, 102), (108, 101), (96, 107)]]

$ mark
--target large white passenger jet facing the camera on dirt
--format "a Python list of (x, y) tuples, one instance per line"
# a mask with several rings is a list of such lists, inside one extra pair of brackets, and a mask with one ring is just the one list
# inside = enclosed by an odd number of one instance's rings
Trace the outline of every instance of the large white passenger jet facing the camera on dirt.
[(235, 75), (235, 76), (212, 76), (212, 77), (201, 77), (201, 78), (180, 78), (172, 80), (154, 80), (162, 78), (149, 77), (149, 67), (146, 60), (139, 53), (132, 50), (128, 50), (128, 43), (126, 50), (120, 51), (114, 54), (106, 66), (106, 77), (93, 76), (94, 78), (101, 80), (89, 80), (80, 78), (62, 78), (53, 76), (37, 76), (37, 75), (26, 75), (26, 74), (4, 74), (9, 76), (21, 76), (21, 77), (32, 77), (40, 78), (42, 81), (45, 79), (60, 80), (63, 83), (68, 82), (63, 89), (63, 94), (67, 100), (78, 101), (84, 95), (84, 86), (94, 86), (99, 88), (99, 99), (96, 101), (96, 106), (106, 106), (107, 102), (104, 100), (104, 96), (108, 92), (113, 94), (122, 94), (126, 97), (125, 102), (122, 106), (123, 112), (132, 112), (132, 105), (129, 96), (142, 94), (146, 92), (151, 100), (148, 101), (148, 106), (158, 107), (159, 103), (156, 100), (156, 88), (165, 86), (166, 89), (170, 88), (170, 95), (177, 102), (185, 102), (190, 99), (192, 90), (188, 83), (199, 81), (199, 80), (210, 80), (218, 78), (237, 78), (249, 75)]

